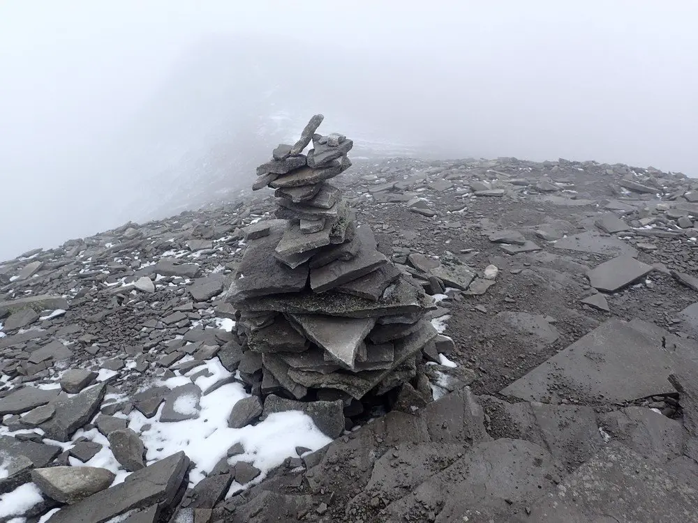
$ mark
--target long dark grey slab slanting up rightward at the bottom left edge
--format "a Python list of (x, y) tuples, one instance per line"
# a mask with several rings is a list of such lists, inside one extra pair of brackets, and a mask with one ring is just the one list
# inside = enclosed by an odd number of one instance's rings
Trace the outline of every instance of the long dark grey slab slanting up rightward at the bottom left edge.
[(124, 483), (61, 508), (47, 523), (105, 523), (129, 510), (160, 505), (167, 510), (177, 502), (189, 460), (183, 452), (135, 471)]

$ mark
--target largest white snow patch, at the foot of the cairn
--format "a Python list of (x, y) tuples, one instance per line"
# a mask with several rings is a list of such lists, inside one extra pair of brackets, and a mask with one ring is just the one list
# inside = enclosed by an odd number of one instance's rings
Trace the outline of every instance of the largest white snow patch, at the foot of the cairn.
[[(218, 358), (207, 361), (206, 365), (212, 375), (195, 380), (195, 384), (202, 391), (206, 391), (221, 379), (232, 376)], [(157, 384), (174, 388), (188, 383), (191, 383), (191, 380), (187, 377), (176, 376)], [(161, 422), (161, 405), (158, 413), (150, 419), (134, 409), (128, 415), (128, 426), (140, 434), (147, 448), (146, 458), (149, 463), (184, 450), (195, 463), (195, 468), (189, 476), (192, 485), (205, 478), (205, 474), (226, 456), (228, 448), (238, 442), (244, 446), (245, 453), (231, 457), (228, 462), (235, 464), (237, 461), (246, 461), (260, 469), (262, 474), (255, 480), (257, 483), (265, 478), (269, 470), (278, 467), (286, 457), (295, 455), (297, 446), (318, 450), (332, 441), (315, 427), (309, 416), (300, 411), (271, 414), (255, 426), (229, 428), (228, 416), (233, 405), (248, 396), (241, 384), (225, 384), (207, 395), (202, 395), (198, 418), (176, 423)], [(188, 406), (186, 404), (182, 407)], [(144, 430), (145, 425), (149, 427)], [(231, 492), (240, 488), (240, 485), (234, 483)]]

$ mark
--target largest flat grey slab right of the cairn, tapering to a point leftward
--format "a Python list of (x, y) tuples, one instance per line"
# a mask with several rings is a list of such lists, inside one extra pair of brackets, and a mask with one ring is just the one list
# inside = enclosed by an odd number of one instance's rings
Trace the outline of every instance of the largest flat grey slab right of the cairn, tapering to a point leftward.
[(567, 397), (622, 403), (673, 392), (674, 356), (662, 347), (664, 335), (645, 321), (609, 319), (501, 393), (549, 403)]

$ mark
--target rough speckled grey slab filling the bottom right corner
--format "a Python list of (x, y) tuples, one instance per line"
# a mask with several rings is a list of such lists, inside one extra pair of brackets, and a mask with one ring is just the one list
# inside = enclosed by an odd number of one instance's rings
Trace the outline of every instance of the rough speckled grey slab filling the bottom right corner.
[(619, 444), (600, 450), (537, 501), (540, 523), (698, 522), (698, 491)]

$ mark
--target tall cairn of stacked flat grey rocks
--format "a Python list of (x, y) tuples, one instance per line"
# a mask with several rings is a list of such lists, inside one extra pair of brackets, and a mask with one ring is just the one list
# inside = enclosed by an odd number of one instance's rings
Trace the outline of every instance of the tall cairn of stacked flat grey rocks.
[(226, 301), (239, 311), (239, 370), (253, 392), (350, 404), (415, 381), (437, 332), (424, 319), (433, 298), (378, 252), (329, 182), (350, 167), (353, 144), (316, 134), (321, 122), (258, 167), (255, 189), (276, 190), (276, 219), (246, 230)]

